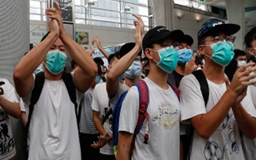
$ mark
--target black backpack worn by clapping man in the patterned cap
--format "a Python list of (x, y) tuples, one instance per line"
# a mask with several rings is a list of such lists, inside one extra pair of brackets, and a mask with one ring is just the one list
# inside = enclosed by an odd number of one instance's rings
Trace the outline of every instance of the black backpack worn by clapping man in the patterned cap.
[[(206, 107), (209, 99), (209, 86), (207, 83), (207, 79), (202, 70), (194, 71), (192, 72), (192, 74), (195, 76), (195, 78), (198, 80), (200, 84), (200, 90), (202, 92), (202, 95), (204, 98), (204, 104)], [(194, 128), (192, 124), (186, 125), (186, 144), (183, 147), (183, 156), (184, 156), (183, 160), (190, 159), (190, 146), (192, 144), (193, 134), (194, 134)]]

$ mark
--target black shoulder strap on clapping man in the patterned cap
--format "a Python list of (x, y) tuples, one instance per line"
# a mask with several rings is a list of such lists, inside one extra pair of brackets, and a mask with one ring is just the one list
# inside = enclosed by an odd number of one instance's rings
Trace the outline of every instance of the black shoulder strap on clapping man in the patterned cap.
[(206, 107), (209, 99), (209, 86), (207, 83), (207, 79), (204, 76), (204, 72), (202, 70), (197, 70), (195, 72), (192, 72), (192, 74), (195, 76), (195, 78), (198, 80), (200, 84), (200, 89), (201, 89), (201, 92), (204, 98), (204, 104)]

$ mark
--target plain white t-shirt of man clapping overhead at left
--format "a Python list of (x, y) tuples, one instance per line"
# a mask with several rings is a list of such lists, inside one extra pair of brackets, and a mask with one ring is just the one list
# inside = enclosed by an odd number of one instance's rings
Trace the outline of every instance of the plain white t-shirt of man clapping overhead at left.
[[(23, 98), (29, 106), (30, 97)], [(83, 94), (76, 90), (77, 103)], [(74, 104), (64, 81), (45, 79), (30, 122), (29, 160), (81, 160)]]

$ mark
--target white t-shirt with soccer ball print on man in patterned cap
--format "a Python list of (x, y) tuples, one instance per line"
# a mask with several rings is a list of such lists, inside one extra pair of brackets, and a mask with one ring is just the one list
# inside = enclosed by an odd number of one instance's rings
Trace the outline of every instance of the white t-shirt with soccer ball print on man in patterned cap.
[[(181, 121), (210, 111), (227, 90), (225, 83), (215, 84), (208, 79), (207, 82), (209, 100), (205, 107), (200, 84), (195, 76), (190, 74), (180, 81)], [(256, 116), (249, 92), (241, 105), (251, 116)], [(239, 128), (232, 109), (209, 140), (201, 138), (194, 131), (190, 157), (191, 160), (244, 160)]]

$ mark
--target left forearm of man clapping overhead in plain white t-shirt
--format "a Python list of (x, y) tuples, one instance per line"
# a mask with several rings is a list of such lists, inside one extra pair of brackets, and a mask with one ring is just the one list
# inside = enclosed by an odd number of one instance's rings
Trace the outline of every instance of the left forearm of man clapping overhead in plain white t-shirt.
[(19, 79), (28, 79), (29, 76), (35, 71), (35, 69), (42, 63), (47, 52), (57, 40), (58, 34), (50, 32), (44, 41), (40, 42), (33, 49), (31, 49), (20, 62), (17, 64), (14, 70), (14, 75)]

